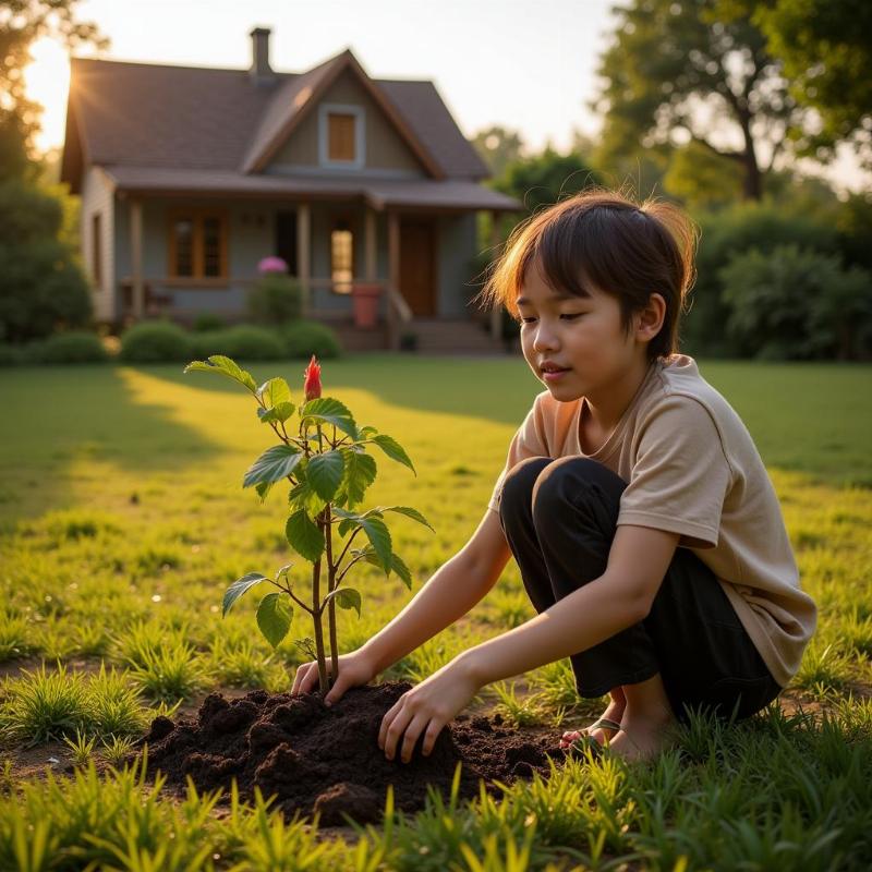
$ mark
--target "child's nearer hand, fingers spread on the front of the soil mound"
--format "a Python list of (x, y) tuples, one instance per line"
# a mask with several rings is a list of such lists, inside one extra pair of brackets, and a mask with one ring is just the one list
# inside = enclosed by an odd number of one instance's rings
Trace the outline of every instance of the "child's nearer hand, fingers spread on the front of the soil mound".
[(421, 753), (427, 756), (443, 727), (479, 692), (481, 686), (465, 661), (456, 657), (425, 681), (408, 690), (387, 711), (378, 730), (378, 747), (393, 760), (402, 741), (401, 759), (408, 763), (417, 737), (424, 734)]

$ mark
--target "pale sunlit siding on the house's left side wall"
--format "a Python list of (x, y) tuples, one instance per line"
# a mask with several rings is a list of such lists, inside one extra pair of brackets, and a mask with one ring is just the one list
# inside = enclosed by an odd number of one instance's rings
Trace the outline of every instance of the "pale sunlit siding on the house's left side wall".
[[(82, 181), (82, 207), (80, 210), (80, 239), (82, 245), (82, 263), (90, 280), (90, 299), (94, 304), (94, 317), (108, 322), (114, 316), (114, 199), (112, 185), (99, 169), (89, 167)], [(100, 216), (100, 272), (101, 281), (97, 286), (94, 277), (94, 216)]]

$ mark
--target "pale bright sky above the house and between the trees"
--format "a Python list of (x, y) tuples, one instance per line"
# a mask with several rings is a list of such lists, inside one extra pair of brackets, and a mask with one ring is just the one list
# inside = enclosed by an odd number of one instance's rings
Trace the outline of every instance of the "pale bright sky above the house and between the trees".
[[(112, 60), (247, 69), (253, 27), (269, 27), (270, 63), (302, 72), (350, 47), (374, 78), (432, 80), (461, 131), (517, 130), (538, 150), (566, 150), (595, 133), (589, 108), (614, 0), (81, 0), (80, 21), (110, 38)], [(34, 46), (25, 71), (43, 104), (43, 149), (63, 142), (69, 61), (57, 43)], [(82, 56), (94, 56), (80, 50)], [(868, 183), (847, 156), (832, 178)]]

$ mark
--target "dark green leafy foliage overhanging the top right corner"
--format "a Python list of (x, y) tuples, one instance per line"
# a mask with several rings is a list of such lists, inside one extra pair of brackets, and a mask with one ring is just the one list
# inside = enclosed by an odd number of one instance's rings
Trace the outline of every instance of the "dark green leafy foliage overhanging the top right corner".
[[(748, 0), (746, 0), (748, 2)], [(872, 165), (872, 4), (868, 0), (770, 0), (753, 21), (784, 63), (790, 94), (814, 109), (820, 129), (799, 138), (802, 153), (832, 158), (839, 142)]]

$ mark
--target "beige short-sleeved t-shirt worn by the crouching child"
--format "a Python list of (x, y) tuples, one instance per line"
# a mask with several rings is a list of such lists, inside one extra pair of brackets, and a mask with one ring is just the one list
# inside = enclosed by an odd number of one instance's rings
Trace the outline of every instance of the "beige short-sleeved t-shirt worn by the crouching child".
[(592, 455), (581, 448), (582, 397), (533, 401), (509, 446), (488, 508), (499, 511), (506, 473), (528, 457), (590, 457), (617, 473), (618, 524), (680, 533), (717, 577), (775, 680), (799, 670), (818, 610), (799, 570), (772, 482), (748, 428), (701, 375), (673, 354), (651, 365), (617, 427)]

